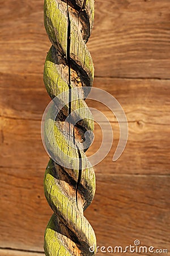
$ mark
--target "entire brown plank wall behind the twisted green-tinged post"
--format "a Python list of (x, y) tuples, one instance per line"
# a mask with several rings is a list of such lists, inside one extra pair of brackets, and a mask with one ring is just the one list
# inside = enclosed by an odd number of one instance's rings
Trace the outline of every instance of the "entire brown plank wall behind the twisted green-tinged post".
[[(44, 230), (52, 214), (43, 191), (48, 155), (40, 135), (50, 101), (42, 81), (50, 42), (43, 0), (0, 4), (0, 255), (38, 256), (44, 255)], [(86, 210), (97, 245), (128, 246), (138, 239), (141, 245), (169, 249), (170, 255), (169, 0), (96, 0), (88, 47), (94, 86), (117, 98), (129, 122), (128, 145), (113, 163), (118, 125), (100, 106), (112, 122), (114, 143), (95, 168), (96, 196)], [(95, 139), (99, 145), (97, 126)]]

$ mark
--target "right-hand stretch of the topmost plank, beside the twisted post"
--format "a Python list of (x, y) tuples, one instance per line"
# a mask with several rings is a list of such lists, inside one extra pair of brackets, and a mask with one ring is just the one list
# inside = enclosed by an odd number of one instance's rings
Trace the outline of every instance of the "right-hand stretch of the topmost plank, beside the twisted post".
[(95, 3), (89, 48), (96, 76), (169, 79), (169, 1)]

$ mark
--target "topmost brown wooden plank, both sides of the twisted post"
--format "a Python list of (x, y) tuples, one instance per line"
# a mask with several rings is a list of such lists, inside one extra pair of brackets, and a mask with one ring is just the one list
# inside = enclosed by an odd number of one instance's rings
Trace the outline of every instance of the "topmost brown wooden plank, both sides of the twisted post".
[[(1, 72), (42, 73), (43, 0), (1, 2)], [(95, 75), (169, 79), (169, 8), (169, 0), (97, 0), (88, 43)]]

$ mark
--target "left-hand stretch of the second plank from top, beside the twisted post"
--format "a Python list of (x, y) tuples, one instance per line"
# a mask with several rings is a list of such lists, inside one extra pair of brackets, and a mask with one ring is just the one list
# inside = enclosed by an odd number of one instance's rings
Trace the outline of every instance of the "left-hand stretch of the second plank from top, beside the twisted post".
[(50, 102), (42, 75), (1, 73), (0, 82), (2, 117), (41, 120)]

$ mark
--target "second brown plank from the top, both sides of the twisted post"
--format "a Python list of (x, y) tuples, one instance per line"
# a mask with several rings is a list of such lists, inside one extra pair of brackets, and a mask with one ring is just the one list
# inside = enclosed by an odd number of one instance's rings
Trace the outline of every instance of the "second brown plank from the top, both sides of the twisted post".
[[(40, 120), (50, 102), (42, 75), (0, 75), (0, 114), (3, 117)], [(122, 105), (129, 122), (169, 124), (170, 81), (148, 79), (99, 79), (94, 87), (107, 90)], [(4, 97), (6, 95), (6, 97)], [(111, 121), (112, 112), (95, 101), (86, 101), (91, 107), (104, 111)]]

